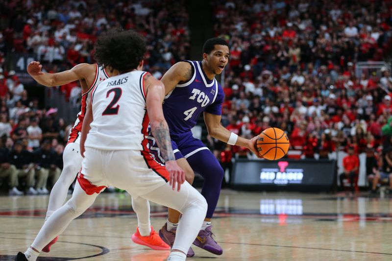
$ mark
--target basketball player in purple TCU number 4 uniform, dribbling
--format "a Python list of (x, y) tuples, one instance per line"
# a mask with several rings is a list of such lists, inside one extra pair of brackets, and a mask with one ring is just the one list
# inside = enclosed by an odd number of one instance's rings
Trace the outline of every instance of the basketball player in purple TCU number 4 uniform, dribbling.
[[(213, 153), (192, 136), (191, 128), (196, 125), (200, 113), (204, 113), (204, 122), (210, 136), (231, 145), (249, 148), (255, 155), (257, 137), (248, 140), (238, 137), (221, 125), (221, 104), (223, 90), (215, 79), (221, 74), (229, 58), (230, 50), (225, 40), (212, 38), (203, 46), (203, 60), (181, 61), (162, 77), (165, 84), (166, 97), (163, 112), (167, 119), (172, 148), (176, 161), (186, 173), (186, 179), (193, 183), (194, 171), (204, 177), (201, 194), (208, 203), (208, 210), (203, 226), (194, 244), (216, 255), (223, 250), (212, 238), (211, 218), (218, 203), (223, 179), (223, 169)], [(153, 151), (159, 161), (159, 153)], [(159, 151), (158, 151), (159, 152)], [(159, 231), (161, 238), (172, 246), (180, 213), (169, 209), (167, 223)], [(194, 255), (189, 249), (188, 257)]]

